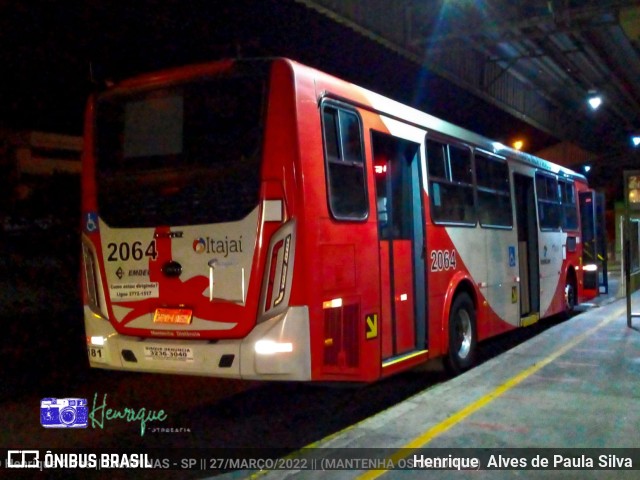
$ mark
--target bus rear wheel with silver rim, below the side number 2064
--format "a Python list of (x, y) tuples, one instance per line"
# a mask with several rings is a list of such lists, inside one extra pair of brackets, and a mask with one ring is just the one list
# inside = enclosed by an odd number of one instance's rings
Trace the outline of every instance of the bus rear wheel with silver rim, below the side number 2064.
[(476, 358), (476, 312), (467, 293), (456, 295), (449, 313), (449, 353), (445, 366), (449, 373), (458, 375), (468, 370)]

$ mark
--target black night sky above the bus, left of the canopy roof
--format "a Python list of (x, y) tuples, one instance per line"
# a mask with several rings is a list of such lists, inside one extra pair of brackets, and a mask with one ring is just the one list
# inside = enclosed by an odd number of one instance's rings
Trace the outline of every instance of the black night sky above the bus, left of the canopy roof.
[(529, 151), (557, 140), (293, 0), (0, 0), (0, 128), (79, 135), (106, 79), (286, 56)]

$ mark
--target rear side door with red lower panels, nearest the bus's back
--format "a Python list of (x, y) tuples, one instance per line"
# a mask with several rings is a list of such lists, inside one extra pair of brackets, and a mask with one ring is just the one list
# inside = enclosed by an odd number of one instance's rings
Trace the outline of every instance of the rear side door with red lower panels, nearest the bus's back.
[(426, 345), (420, 145), (379, 132), (372, 145), (385, 360)]

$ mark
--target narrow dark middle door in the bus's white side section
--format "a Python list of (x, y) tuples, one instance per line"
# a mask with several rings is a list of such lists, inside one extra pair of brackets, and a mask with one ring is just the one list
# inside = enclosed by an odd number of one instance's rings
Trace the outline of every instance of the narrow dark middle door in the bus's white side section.
[(513, 174), (520, 262), (520, 325), (540, 318), (540, 270), (538, 253), (538, 217), (533, 177)]

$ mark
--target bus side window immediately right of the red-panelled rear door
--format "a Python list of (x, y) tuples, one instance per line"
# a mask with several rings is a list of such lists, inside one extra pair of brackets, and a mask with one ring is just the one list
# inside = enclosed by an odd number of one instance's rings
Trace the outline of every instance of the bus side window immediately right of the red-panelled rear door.
[(475, 225), (471, 151), (429, 139), (427, 170), (434, 222)]

